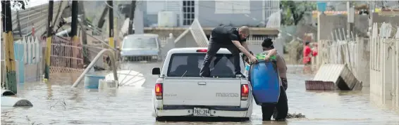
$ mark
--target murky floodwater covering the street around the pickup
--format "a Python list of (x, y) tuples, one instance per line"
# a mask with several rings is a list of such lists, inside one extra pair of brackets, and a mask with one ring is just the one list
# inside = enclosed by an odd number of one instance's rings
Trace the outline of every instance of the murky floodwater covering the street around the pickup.
[[(151, 115), (157, 76), (151, 70), (161, 63), (130, 62), (124, 67), (145, 74), (146, 83), (108, 91), (85, 90), (82, 84), (71, 89), (72, 81), (63, 78), (20, 85), (18, 96), (34, 106), (1, 107), (1, 124), (399, 124), (398, 110), (370, 100), (367, 91), (305, 91), (305, 80), (312, 77), (293, 73), (288, 74), (289, 112), (305, 114), (304, 119), (262, 122), (260, 107), (254, 105), (252, 118), (245, 122), (157, 122)], [(300, 71), (291, 67), (290, 72)]]

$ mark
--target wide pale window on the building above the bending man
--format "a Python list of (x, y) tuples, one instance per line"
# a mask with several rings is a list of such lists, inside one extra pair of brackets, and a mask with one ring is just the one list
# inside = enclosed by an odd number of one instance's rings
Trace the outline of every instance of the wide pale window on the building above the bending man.
[(249, 0), (242, 1), (215, 1), (216, 14), (250, 14), (251, 7)]

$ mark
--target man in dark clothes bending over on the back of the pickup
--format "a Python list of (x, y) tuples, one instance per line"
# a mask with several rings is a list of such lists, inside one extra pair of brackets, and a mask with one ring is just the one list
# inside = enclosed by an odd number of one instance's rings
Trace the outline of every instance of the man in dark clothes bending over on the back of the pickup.
[[(256, 62), (257, 59), (254, 55), (252, 55), (247, 46), (247, 37), (250, 34), (250, 28), (247, 26), (243, 26), (240, 28), (235, 28), (231, 26), (221, 25), (215, 27), (211, 31), (211, 37), (209, 38), (208, 51), (207, 55), (204, 58), (204, 62), (202, 63), (202, 68), (200, 71), (201, 77), (211, 77), (209, 71), (209, 65), (211, 64), (211, 60), (219, 51), (220, 48), (227, 48), (228, 51), (233, 54), (235, 74), (242, 74), (240, 68), (240, 52), (247, 55), (250, 62)], [(274, 52), (269, 53), (270, 55), (276, 54), (276, 50), (272, 50)]]

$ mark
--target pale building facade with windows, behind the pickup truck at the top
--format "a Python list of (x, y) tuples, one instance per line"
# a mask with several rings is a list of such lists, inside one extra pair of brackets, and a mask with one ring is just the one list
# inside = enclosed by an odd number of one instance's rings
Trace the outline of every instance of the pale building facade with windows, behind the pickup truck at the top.
[(195, 18), (202, 27), (266, 27), (266, 24), (279, 27), (279, 21), (278, 24), (267, 21), (270, 15), (278, 13), (280, 1), (139, 1), (137, 8), (143, 12), (145, 27), (157, 27), (160, 11), (176, 13), (176, 27), (188, 27)]

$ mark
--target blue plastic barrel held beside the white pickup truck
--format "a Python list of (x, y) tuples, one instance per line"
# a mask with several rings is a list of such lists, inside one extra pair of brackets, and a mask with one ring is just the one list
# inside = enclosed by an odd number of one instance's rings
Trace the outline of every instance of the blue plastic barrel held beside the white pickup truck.
[(251, 65), (250, 82), (257, 105), (274, 104), (280, 96), (280, 78), (275, 62), (259, 60)]

